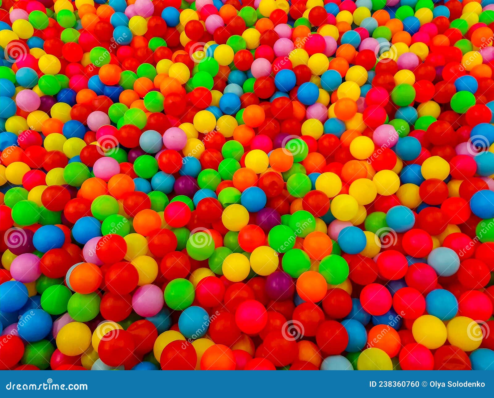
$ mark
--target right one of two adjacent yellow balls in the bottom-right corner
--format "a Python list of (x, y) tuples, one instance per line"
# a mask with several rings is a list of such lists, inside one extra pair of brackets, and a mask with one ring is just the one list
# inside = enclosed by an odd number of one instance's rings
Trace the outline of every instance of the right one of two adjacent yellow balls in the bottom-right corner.
[(448, 342), (463, 351), (476, 350), (482, 343), (482, 328), (472, 318), (455, 317), (448, 322), (446, 330)]

